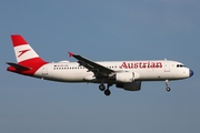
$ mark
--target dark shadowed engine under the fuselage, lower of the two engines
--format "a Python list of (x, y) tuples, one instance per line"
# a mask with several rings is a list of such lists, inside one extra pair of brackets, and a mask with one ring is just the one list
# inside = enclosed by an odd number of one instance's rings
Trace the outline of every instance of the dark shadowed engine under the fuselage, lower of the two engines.
[(132, 83), (118, 83), (116, 86), (124, 89), (127, 91), (140, 91), (141, 82), (136, 81), (136, 82), (132, 82)]

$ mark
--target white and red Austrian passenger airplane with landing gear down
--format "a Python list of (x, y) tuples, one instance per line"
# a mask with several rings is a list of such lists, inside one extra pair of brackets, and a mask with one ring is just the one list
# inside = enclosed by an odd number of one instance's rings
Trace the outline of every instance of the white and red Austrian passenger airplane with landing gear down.
[[(17, 63), (7, 62), (8, 71), (22, 75), (58, 82), (98, 83), (99, 90), (110, 95), (110, 86), (116, 85), (127, 91), (139, 91), (142, 81), (164, 81), (169, 92), (169, 81), (182, 80), (193, 75), (184, 64), (172, 60), (143, 61), (101, 61), (94, 62), (82, 55), (69, 52), (77, 62), (47, 62), (38, 55), (20, 34), (12, 34), (11, 40)], [(107, 86), (106, 86), (106, 85)]]

